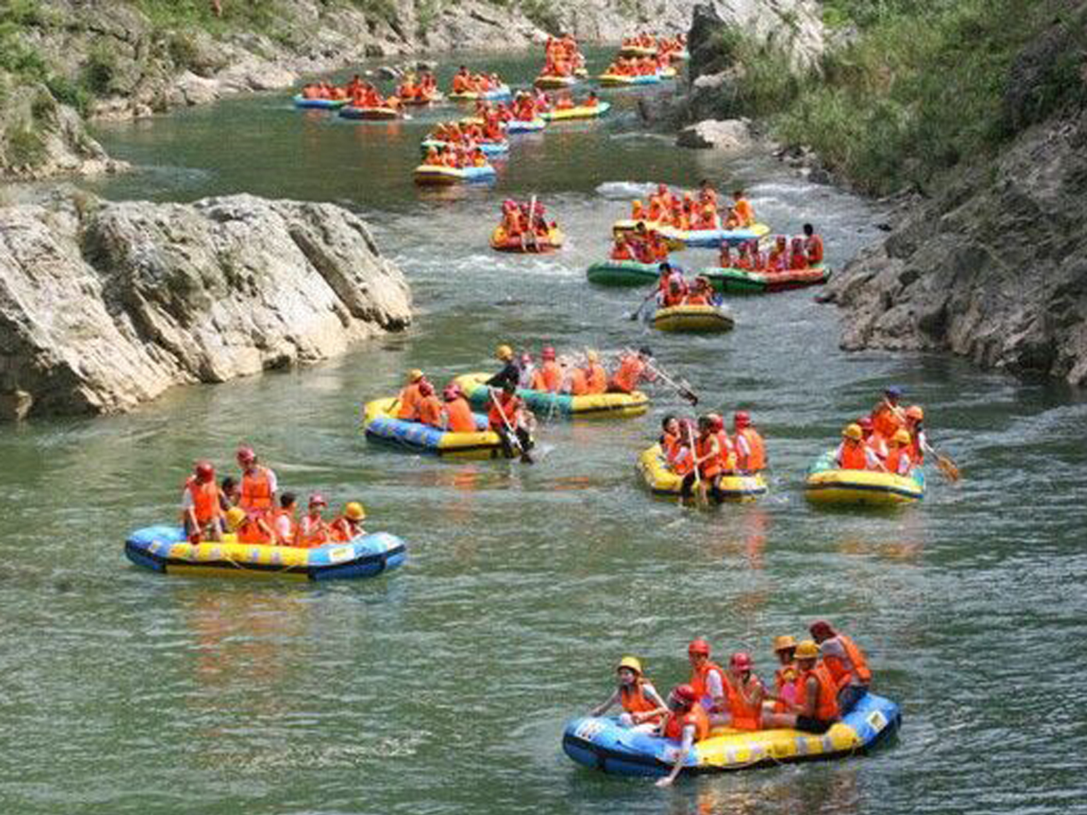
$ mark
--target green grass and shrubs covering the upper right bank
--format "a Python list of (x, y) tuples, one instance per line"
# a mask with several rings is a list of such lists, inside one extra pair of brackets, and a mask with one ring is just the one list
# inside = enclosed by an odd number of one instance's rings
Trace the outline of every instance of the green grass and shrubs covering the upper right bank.
[[(925, 188), (963, 160), (991, 155), (1014, 128), (1003, 111), (1017, 53), (1053, 20), (1048, 3), (1019, 0), (827, 0), (826, 15), (857, 40), (796, 78), (785, 55), (723, 35), (744, 76), (722, 99), (728, 113), (769, 120), (790, 145), (872, 193)], [(1080, 15), (1069, 21), (1083, 32)], [(1079, 60), (1057, 61), (1028, 98), (1040, 121), (1078, 95)], [(1022, 125), (1022, 123), (1020, 123)]]

